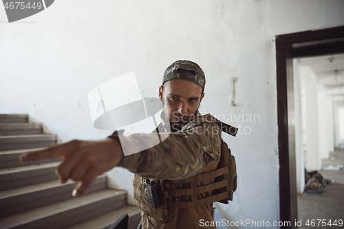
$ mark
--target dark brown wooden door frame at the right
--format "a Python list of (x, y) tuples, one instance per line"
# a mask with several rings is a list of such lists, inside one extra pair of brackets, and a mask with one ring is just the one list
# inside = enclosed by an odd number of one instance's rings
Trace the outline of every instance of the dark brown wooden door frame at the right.
[(344, 52), (344, 26), (276, 36), (280, 221), (297, 220), (292, 58)]

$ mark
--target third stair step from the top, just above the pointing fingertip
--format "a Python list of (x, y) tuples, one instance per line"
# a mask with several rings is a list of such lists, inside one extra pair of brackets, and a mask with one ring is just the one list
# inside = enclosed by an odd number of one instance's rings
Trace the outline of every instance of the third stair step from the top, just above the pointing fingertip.
[(0, 136), (0, 151), (32, 149), (54, 144), (56, 144), (56, 135), (50, 134)]

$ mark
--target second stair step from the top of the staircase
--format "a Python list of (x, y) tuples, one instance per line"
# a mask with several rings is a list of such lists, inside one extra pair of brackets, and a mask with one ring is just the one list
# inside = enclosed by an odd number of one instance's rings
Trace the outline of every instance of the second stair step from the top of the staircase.
[(43, 134), (41, 123), (0, 123), (0, 135)]

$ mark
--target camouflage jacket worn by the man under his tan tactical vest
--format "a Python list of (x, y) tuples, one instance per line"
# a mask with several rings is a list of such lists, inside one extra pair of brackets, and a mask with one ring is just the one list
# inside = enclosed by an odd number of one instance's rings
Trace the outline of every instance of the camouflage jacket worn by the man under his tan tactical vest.
[[(217, 120), (210, 114), (197, 113), (195, 118), (180, 131), (169, 134), (160, 144), (147, 150), (123, 157), (118, 166), (149, 179), (184, 179), (214, 167), (220, 160), (221, 130)], [(164, 128), (164, 121), (159, 125)], [(156, 134), (156, 133), (155, 133)], [(116, 132), (114, 133), (116, 135)], [(150, 141), (151, 134), (133, 134), (125, 138), (124, 144), (135, 146)], [(123, 141), (121, 139), (121, 144)], [(214, 168), (211, 169), (215, 169)], [(179, 209), (177, 217), (169, 223), (161, 223), (142, 213), (142, 228), (198, 228), (200, 219), (212, 221), (210, 211), (213, 204), (192, 209)], [(191, 220), (192, 219), (192, 220)], [(185, 224), (186, 223), (186, 224)], [(206, 228), (206, 227), (205, 227)]]

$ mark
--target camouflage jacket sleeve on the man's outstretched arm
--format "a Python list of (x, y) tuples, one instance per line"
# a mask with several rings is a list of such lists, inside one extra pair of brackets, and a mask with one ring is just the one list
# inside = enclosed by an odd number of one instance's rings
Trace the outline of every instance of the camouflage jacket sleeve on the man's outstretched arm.
[[(109, 137), (116, 138), (116, 134)], [(166, 139), (123, 157), (118, 166), (149, 179), (183, 179), (200, 173), (208, 164), (220, 159), (221, 131), (215, 123), (202, 122), (183, 131), (158, 134), (165, 135), (162, 139)], [(152, 138), (156, 138), (156, 133), (133, 134), (124, 141), (121, 136), (121, 144), (135, 147), (149, 144)]]

